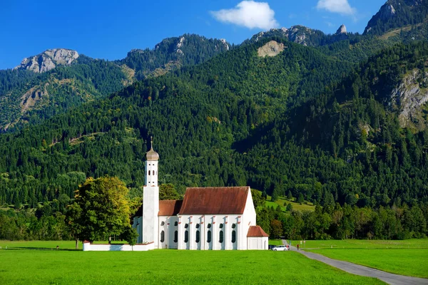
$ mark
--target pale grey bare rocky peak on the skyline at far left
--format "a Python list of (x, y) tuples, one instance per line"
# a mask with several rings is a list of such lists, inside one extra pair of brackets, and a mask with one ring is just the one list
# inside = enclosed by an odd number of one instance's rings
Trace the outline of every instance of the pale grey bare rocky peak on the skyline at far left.
[(35, 73), (44, 73), (56, 68), (58, 64), (69, 66), (78, 58), (77, 51), (65, 48), (54, 48), (44, 51), (37, 56), (24, 58), (14, 69), (26, 69)]

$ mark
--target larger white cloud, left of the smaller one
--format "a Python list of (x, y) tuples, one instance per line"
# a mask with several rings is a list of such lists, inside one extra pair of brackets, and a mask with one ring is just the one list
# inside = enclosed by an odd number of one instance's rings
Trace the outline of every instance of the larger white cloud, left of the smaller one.
[(280, 26), (275, 20), (275, 11), (270, 9), (266, 2), (242, 1), (233, 9), (221, 9), (210, 13), (220, 22), (246, 28), (267, 30)]

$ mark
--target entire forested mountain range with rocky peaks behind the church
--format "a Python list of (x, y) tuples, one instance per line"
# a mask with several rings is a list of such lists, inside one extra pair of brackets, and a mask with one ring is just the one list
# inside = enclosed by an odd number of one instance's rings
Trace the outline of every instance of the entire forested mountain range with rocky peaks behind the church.
[(160, 181), (181, 191), (427, 204), (426, 6), (387, 1), (362, 35), (293, 26), (238, 46), (185, 34), (118, 61), (25, 58), (0, 71), (0, 204), (71, 197), (103, 175), (141, 195), (151, 135)]

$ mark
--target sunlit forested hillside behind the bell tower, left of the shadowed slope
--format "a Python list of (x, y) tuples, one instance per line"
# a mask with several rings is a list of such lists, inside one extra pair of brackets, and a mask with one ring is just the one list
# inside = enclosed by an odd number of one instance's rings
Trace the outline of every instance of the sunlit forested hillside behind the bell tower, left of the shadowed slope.
[(287, 105), (320, 93), (324, 83), (340, 81), (351, 68), (295, 43), (276, 57), (260, 58), (263, 44), (135, 83), (40, 126), (1, 135), (2, 201), (35, 204), (71, 195), (73, 177), (84, 175), (118, 175), (139, 187), (149, 134), (165, 160), (164, 182), (245, 184), (232, 143)]

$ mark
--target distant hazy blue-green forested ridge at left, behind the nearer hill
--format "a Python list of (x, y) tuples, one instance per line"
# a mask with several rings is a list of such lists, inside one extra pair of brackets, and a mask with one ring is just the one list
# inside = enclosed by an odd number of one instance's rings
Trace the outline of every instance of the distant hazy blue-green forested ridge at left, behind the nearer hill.
[(120, 61), (78, 56), (71, 65), (59, 64), (43, 73), (21, 66), (0, 71), (0, 132), (41, 123), (147, 76), (203, 63), (231, 47), (224, 40), (185, 34), (165, 38), (153, 50), (133, 50)]

